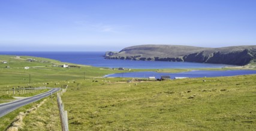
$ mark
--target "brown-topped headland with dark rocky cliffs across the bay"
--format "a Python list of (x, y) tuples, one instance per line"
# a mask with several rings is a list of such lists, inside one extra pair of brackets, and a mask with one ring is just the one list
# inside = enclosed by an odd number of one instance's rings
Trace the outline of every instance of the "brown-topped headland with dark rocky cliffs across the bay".
[(256, 61), (256, 46), (201, 48), (181, 45), (138, 45), (107, 52), (107, 59), (143, 61), (186, 61), (244, 66)]

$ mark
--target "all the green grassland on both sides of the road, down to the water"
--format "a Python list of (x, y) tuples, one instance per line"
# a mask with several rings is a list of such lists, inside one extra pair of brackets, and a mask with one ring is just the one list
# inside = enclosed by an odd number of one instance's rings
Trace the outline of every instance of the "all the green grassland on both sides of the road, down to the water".
[[(29, 74), (32, 86), (68, 85), (62, 100), (68, 111), (70, 130), (256, 129), (256, 75), (161, 82), (134, 79), (128, 83), (128, 78), (102, 77), (122, 72), (119, 70), (81, 65), (80, 68), (61, 68), (53, 66), (63, 64), (60, 61), (34, 59), (38, 61), (28, 62), (0, 55), (0, 61), (8, 61), (10, 66), (5, 68), (7, 64), (0, 64), (0, 96), (7, 96), (6, 89), (27, 86)], [(25, 70), (25, 66), (34, 68)], [(56, 102), (46, 99), (37, 111), (23, 118), (22, 130), (60, 129), (56, 123), (59, 117)], [(33, 105), (1, 117), (0, 130), (6, 129), (19, 112)]]

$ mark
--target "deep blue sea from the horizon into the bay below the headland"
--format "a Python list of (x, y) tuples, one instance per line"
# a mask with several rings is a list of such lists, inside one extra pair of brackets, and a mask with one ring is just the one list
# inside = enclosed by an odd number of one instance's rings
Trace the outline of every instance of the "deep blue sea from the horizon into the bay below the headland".
[(231, 65), (167, 61), (106, 60), (105, 52), (0, 52), (0, 55), (44, 57), (67, 63), (109, 68), (222, 68)]

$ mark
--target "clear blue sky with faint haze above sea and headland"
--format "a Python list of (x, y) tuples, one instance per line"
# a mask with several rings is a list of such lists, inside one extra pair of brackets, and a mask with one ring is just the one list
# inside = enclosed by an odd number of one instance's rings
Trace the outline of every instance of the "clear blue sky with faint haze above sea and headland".
[(256, 45), (255, 0), (0, 0), (0, 51)]

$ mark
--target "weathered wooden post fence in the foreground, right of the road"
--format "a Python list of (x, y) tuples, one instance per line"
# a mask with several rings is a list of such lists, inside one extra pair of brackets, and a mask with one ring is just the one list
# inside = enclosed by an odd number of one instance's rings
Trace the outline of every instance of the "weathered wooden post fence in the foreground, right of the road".
[(62, 89), (61, 92), (57, 93), (57, 102), (59, 107), (59, 116), (61, 117), (61, 128), (62, 131), (68, 131), (68, 111), (64, 111), (64, 104), (61, 100), (61, 95), (67, 91), (67, 86)]

